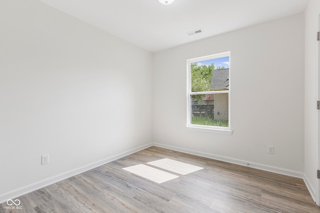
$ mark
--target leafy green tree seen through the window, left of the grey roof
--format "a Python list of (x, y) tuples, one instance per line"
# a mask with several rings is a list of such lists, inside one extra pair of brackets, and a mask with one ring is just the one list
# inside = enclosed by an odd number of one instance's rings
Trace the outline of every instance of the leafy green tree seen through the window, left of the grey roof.
[[(191, 64), (191, 91), (192, 92), (206, 92), (210, 91), (210, 83), (212, 71), (215, 65), (192, 63)], [(200, 100), (206, 95), (192, 95), (192, 100)]]

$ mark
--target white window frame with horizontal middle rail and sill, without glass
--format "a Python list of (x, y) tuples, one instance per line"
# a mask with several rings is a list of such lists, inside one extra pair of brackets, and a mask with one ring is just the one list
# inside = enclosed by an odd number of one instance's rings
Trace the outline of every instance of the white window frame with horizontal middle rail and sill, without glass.
[[(191, 63), (215, 59), (215, 58), (222, 58), (222, 57), (229, 57), (229, 89), (228, 90), (220, 90), (220, 91), (208, 91), (208, 92), (191, 92)], [(219, 133), (219, 134), (226, 134), (231, 135), (231, 119), (230, 119), (230, 112), (231, 112), (231, 69), (230, 69), (230, 52), (223, 52), (203, 57), (197, 57), (188, 59), (187, 62), (187, 92), (186, 92), (186, 127), (188, 130), (197, 130), (197, 131), (205, 131), (205, 132), (212, 132), (212, 133)], [(198, 124), (191, 124), (191, 95), (202, 95), (202, 94), (228, 94), (228, 127), (219, 127), (219, 126), (207, 126), (207, 125), (198, 125)]]

